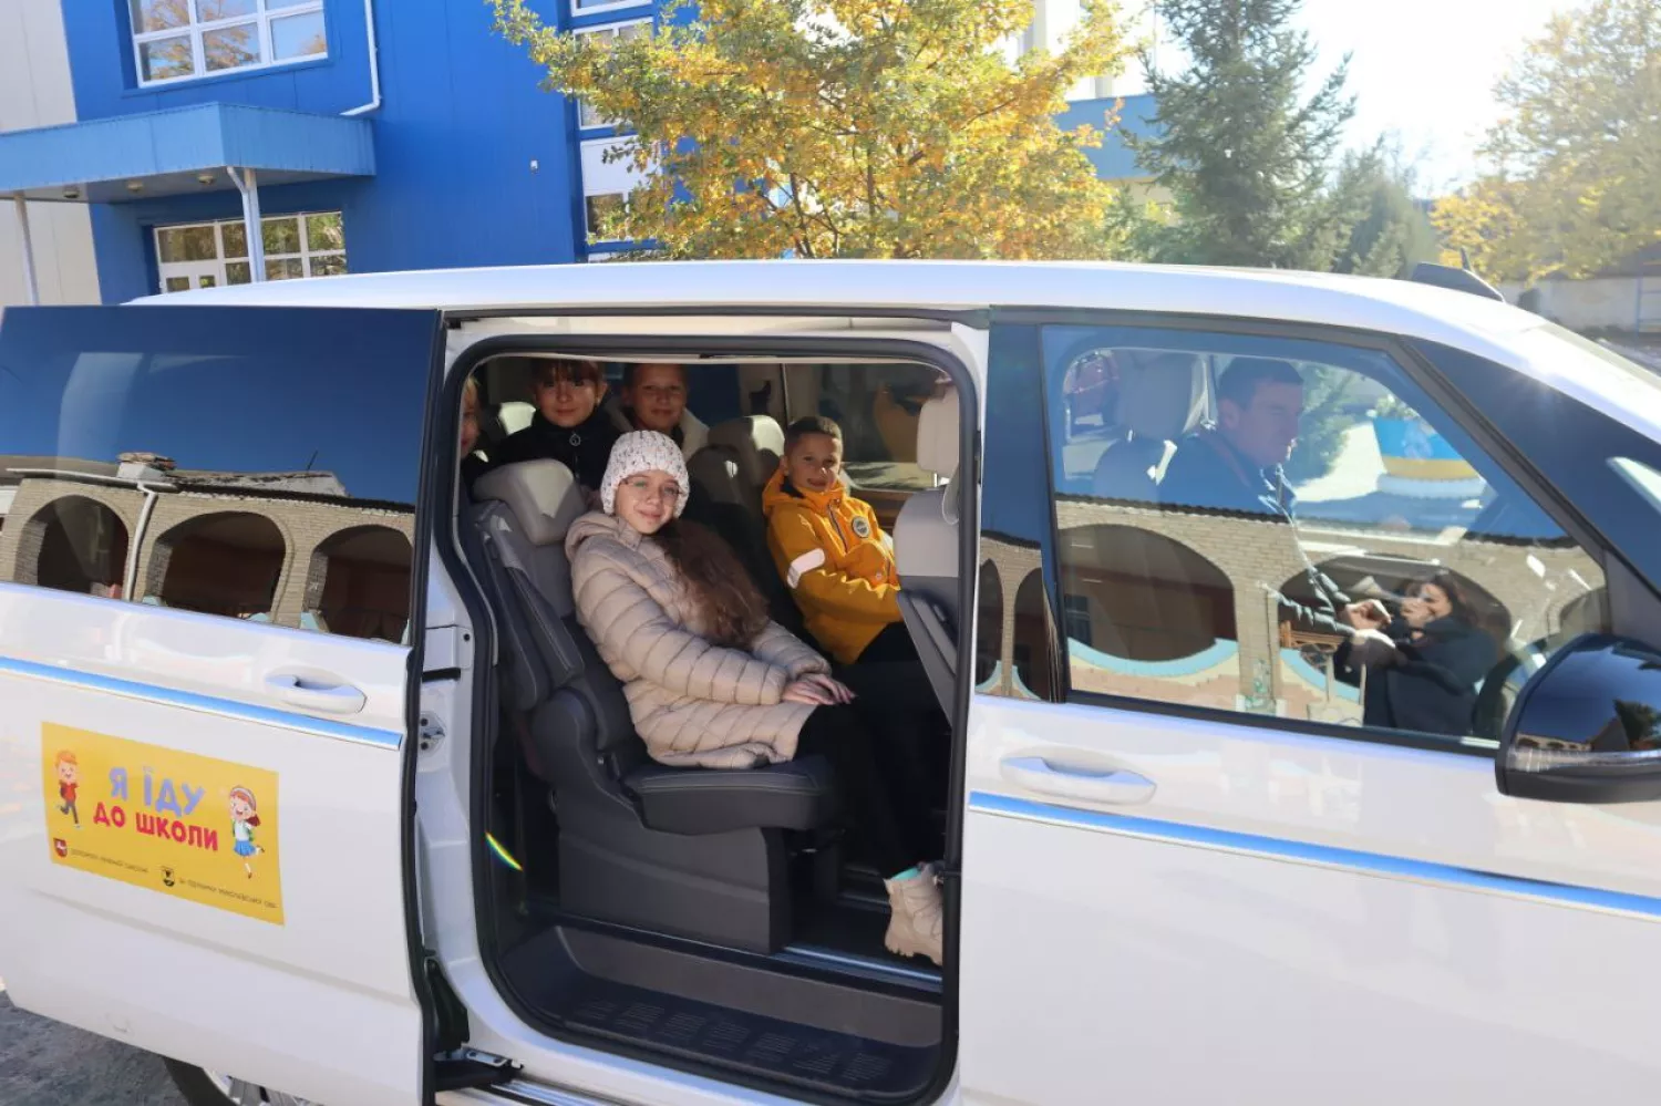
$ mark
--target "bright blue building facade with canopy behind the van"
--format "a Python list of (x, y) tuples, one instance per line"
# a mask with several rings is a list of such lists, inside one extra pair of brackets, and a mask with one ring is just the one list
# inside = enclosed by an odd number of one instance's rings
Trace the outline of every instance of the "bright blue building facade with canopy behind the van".
[[(656, 10), (533, 7), (561, 28), (625, 35)], [(626, 191), (601, 156), (611, 128), (543, 91), (482, 0), (63, 0), (63, 18), (80, 121), (5, 136), (0, 194), (93, 204), (105, 302), (254, 269), (608, 252), (586, 228)], [(1100, 121), (1106, 106), (1068, 116)], [(1098, 168), (1124, 176), (1116, 146)], [(254, 216), (264, 257), (246, 241)]]

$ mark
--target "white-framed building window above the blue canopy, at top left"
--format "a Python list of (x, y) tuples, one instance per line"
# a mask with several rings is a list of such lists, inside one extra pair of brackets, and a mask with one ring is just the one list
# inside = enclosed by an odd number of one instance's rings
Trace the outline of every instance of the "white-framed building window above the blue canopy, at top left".
[(128, 0), (128, 7), (140, 85), (329, 53), (322, 0)]

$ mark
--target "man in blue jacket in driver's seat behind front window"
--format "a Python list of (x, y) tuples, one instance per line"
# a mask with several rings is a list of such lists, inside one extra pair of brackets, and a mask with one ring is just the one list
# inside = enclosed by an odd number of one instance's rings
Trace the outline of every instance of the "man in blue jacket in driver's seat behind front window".
[[(1304, 414), (1304, 379), (1291, 362), (1236, 357), (1218, 382), (1218, 423), (1183, 438), (1159, 482), (1159, 502), (1269, 515), (1291, 523), (1297, 495), (1286, 480), (1286, 460), (1297, 445)], [(1296, 531), (1294, 531), (1296, 533)], [(1350, 603), (1302, 551), (1314, 604), (1281, 596), (1282, 616), (1297, 629), (1350, 638), (1389, 623), (1375, 599)]]

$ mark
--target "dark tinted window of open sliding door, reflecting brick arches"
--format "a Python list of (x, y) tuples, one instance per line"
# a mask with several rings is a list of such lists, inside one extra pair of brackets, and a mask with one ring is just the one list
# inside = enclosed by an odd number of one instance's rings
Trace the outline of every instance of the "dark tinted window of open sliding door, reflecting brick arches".
[(425, 312), (7, 312), (0, 580), (405, 639), (434, 335)]

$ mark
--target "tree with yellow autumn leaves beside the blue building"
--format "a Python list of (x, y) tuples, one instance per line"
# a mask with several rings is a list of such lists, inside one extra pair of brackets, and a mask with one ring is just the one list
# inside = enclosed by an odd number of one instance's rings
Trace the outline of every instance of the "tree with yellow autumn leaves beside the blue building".
[[(668, 257), (1106, 257), (1120, 193), (1055, 116), (1126, 48), (1085, 5), (1012, 60), (1028, 0), (679, 0), (653, 33), (561, 33), (487, 0), (545, 86), (616, 120), (638, 186), (603, 237)], [(1111, 120), (1103, 120), (1110, 126)]]

